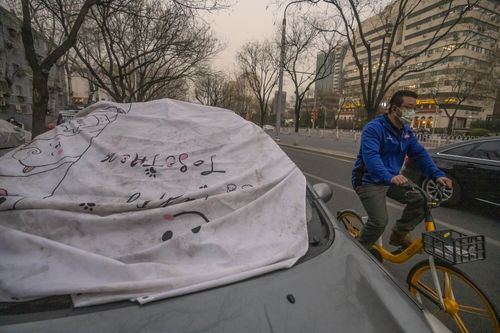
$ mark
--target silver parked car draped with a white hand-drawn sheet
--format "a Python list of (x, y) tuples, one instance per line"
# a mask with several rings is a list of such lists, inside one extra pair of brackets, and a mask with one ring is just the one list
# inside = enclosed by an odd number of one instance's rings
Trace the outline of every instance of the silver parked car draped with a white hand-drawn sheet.
[(256, 125), (87, 111), (0, 159), (0, 332), (447, 332)]

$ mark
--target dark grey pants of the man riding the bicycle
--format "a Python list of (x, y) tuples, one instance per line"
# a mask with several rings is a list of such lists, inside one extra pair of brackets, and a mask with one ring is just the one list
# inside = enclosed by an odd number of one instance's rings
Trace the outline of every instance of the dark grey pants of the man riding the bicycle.
[(424, 198), (417, 190), (397, 185), (362, 185), (356, 187), (356, 193), (368, 214), (368, 221), (359, 236), (359, 242), (368, 249), (384, 233), (387, 225), (386, 196), (406, 204), (403, 215), (392, 230), (399, 233), (410, 232), (425, 217)]

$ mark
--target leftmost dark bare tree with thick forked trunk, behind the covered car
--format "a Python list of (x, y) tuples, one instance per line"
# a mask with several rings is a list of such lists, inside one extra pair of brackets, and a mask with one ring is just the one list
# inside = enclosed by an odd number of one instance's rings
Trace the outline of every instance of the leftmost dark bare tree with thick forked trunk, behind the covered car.
[[(109, 0), (112, 1), (112, 0)], [(76, 43), (78, 31), (88, 11), (103, 0), (21, 0), (23, 23), (22, 40), (26, 59), (33, 71), (33, 116), (32, 134), (36, 136), (45, 131), (45, 116), (48, 110), (50, 69)], [(43, 18), (51, 16), (52, 27), (44, 29)], [(35, 49), (33, 32), (34, 22), (41, 31), (59, 31), (59, 39), (54, 41), (54, 48), (47, 56), (40, 58)], [(40, 31), (39, 30), (39, 31)], [(55, 35), (55, 33), (54, 33)], [(57, 42), (58, 41), (58, 42)]]

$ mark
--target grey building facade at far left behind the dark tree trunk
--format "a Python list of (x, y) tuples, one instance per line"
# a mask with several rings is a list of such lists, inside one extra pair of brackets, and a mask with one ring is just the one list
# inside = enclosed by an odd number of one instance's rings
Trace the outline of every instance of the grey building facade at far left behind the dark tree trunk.
[[(39, 57), (48, 54), (49, 42), (35, 34), (35, 51)], [(0, 7), (0, 118), (14, 117), (31, 130), (32, 79), (31, 67), (24, 54), (21, 20)], [(57, 117), (57, 110), (68, 105), (65, 71), (62, 65), (52, 67), (49, 74), (48, 119)]]

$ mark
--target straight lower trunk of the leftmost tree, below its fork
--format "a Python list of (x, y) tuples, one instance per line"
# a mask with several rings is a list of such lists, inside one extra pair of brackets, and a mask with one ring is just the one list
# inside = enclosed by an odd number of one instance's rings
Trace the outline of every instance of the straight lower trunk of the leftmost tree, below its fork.
[(33, 73), (32, 138), (47, 130), (45, 127), (45, 116), (47, 115), (49, 105), (48, 80), (48, 74)]

